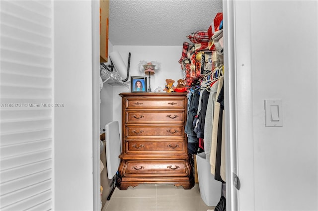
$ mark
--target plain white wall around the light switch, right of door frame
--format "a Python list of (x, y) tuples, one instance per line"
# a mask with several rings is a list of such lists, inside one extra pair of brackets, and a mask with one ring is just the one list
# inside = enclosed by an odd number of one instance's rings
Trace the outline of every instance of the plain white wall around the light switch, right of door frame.
[[(236, 9), (236, 14), (242, 12), (235, 17), (239, 22), (248, 11), (244, 11), (246, 7)], [(255, 199), (254, 210), (318, 210), (317, 14), (317, 1), (250, 1), (251, 49), (239, 46), (236, 53), (238, 81), (242, 64), (246, 65), (239, 54), (246, 50), (251, 55), (252, 93), (245, 104), (251, 104), (253, 166), (239, 175), (239, 195), (246, 195), (244, 187), (254, 186), (254, 193), (247, 193), (249, 199)], [(236, 30), (242, 32), (239, 27)], [(238, 89), (244, 86), (239, 84)], [(283, 127), (265, 127), (265, 99), (282, 100)], [(244, 108), (238, 112), (240, 109)], [(243, 141), (238, 140), (239, 159), (250, 154), (240, 148)], [(239, 160), (239, 169), (242, 165)], [(254, 174), (251, 184), (244, 173)], [(239, 200), (239, 210), (253, 203), (244, 199)]]

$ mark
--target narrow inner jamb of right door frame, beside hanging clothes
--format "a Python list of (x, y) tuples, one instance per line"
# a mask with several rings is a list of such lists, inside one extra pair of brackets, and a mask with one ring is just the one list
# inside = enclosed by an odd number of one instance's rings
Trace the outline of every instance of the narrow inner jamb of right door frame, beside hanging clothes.
[[(238, 210), (238, 191), (233, 186), (233, 173), (237, 174), (237, 120), (236, 120), (236, 75), (235, 75), (235, 37), (234, 1), (223, 1), (223, 39), (224, 39), (224, 109), (226, 140), (226, 199), (227, 210)], [(228, 111), (228, 112), (227, 112)], [(232, 173), (233, 172), (233, 173)], [(230, 185), (229, 185), (230, 184)]]

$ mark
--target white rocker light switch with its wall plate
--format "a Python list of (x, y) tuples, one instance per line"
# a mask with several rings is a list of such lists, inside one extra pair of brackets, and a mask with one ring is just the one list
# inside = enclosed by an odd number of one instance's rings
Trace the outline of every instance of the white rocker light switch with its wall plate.
[(265, 126), (266, 127), (282, 127), (282, 101), (281, 100), (265, 100)]

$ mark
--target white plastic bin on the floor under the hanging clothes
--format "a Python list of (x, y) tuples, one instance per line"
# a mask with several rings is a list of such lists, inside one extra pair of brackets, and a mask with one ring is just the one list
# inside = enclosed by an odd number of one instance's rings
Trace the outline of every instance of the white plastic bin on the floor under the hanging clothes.
[(201, 198), (207, 206), (217, 206), (222, 193), (222, 182), (215, 180), (211, 174), (210, 161), (205, 158), (205, 153), (197, 154), (196, 160)]

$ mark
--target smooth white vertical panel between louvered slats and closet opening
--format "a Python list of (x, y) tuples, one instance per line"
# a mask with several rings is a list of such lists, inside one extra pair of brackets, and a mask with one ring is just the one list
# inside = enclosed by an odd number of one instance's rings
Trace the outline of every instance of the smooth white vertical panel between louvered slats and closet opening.
[(56, 211), (93, 210), (92, 9), (74, 3), (54, 1)]

